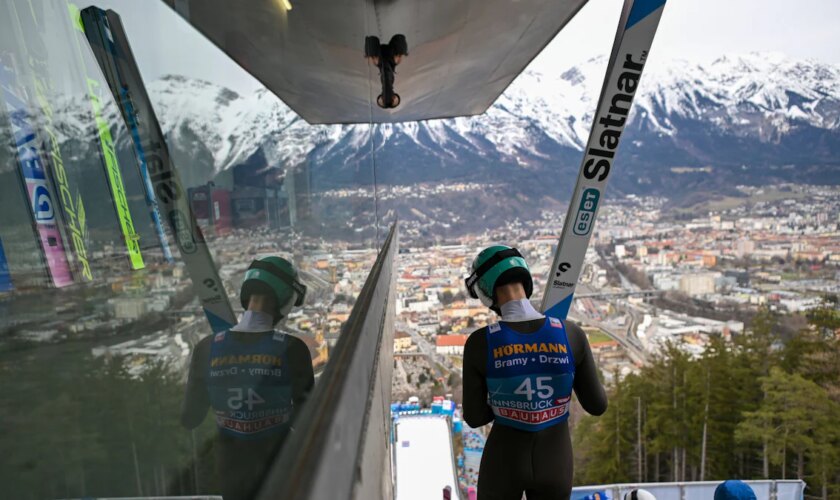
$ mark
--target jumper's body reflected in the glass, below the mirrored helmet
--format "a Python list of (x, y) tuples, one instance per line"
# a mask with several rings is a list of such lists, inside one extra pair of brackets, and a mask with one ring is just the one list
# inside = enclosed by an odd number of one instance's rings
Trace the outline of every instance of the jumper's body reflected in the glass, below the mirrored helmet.
[(253, 497), (314, 383), (309, 348), (292, 335), (229, 330), (196, 345), (181, 423), (193, 429), (212, 408), (225, 500)]

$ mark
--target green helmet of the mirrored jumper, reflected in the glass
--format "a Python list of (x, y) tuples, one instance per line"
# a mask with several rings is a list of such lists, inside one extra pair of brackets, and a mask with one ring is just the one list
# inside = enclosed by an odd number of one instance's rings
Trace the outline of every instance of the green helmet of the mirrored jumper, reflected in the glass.
[(306, 286), (298, 281), (298, 273), (291, 262), (282, 257), (263, 257), (251, 262), (245, 273), (239, 294), (242, 307), (248, 308), (248, 301), (255, 293), (274, 298), (274, 320), (279, 321), (289, 314), (292, 306), (303, 305)]

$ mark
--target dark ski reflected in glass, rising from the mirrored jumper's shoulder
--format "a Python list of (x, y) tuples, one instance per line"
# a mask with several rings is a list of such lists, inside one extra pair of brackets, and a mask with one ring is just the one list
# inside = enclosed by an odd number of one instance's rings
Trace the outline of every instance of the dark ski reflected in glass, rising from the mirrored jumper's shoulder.
[(131, 102), (130, 107), (121, 106), (120, 111), (126, 123), (133, 126), (132, 138), (144, 154), (161, 212), (169, 223), (210, 327), (214, 332), (226, 330), (236, 323), (236, 316), (172, 162), (120, 17), (112, 10), (89, 7), (82, 11), (79, 25), (90, 39), (114, 99)]

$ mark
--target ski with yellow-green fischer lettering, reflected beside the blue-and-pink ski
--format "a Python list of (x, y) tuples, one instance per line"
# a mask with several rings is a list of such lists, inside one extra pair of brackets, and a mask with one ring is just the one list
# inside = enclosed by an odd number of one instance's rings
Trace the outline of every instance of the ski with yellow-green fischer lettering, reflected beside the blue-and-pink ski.
[[(41, 111), (41, 130), (44, 141), (41, 144), (41, 151), (44, 153), (45, 167), (51, 174), (53, 186), (57, 192), (57, 205), (60, 209), (61, 218), (64, 222), (65, 236), (73, 244), (75, 251), (74, 275), (82, 281), (92, 281), (93, 271), (91, 270), (88, 258), (88, 232), (87, 217), (82, 195), (78, 189), (71, 190), (70, 178), (64, 166), (64, 159), (61, 155), (59, 140), (53, 122), (55, 113), (51, 104), (52, 83), (47, 75), (48, 63), (46, 45), (43, 43), (45, 27), (39, 23), (36, 9), (29, 0), (30, 8), (18, 9), (12, 4), (13, 17), (16, 19), (18, 31), (15, 37), (18, 39), (19, 49), (28, 60), (29, 83), (28, 88), (33, 89), (35, 102)], [(21, 70), (21, 77), (26, 71)]]

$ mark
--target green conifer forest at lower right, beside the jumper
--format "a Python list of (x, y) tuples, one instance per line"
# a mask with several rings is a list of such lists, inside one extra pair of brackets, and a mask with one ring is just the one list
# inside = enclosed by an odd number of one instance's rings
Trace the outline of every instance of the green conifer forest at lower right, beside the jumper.
[(784, 335), (764, 310), (699, 358), (670, 345), (618, 381), (607, 412), (575, 425), (575, 483), (798, 478), (840, 498), (836, 301), (807, 320)]

